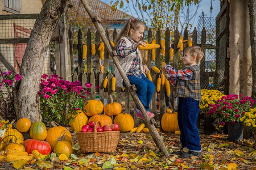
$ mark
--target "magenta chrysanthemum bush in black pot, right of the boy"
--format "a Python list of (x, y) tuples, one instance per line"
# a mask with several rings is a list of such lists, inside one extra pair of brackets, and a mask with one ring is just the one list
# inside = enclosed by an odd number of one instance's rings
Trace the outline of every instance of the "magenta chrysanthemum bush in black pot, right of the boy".
[[(243, 138), (243, 124), (240, 118), (255, 104), (251, 97), (242, 95), (226, 95), (210, 105), (208, 115), (218, 118), (220, 125), (228, 125), (229, 141), (241, 141)], [(233, 129), (234, 128), (234, 129)]]

